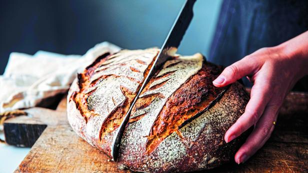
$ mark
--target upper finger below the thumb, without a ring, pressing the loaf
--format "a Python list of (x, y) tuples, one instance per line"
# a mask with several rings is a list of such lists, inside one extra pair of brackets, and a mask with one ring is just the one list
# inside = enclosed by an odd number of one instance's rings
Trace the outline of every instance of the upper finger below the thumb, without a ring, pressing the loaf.
[(224, 141), (226, 143), (232, 141), (254, 125), (263, 114), (270, 98), (271, 90), (269, 84), (255, 83), (251, 88), (250, 100), (245, 108), (245, 112), (227, 130), (224, 135)]

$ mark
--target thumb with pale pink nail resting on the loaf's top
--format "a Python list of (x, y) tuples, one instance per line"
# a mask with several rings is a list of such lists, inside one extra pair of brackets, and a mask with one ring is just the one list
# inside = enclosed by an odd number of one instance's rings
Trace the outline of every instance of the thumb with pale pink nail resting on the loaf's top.
[(258, 62), (252, 60), (251, 56), (246, 56), (243, 59), (226, 67), (222, 73), (213, 81), (214, 86), (223, 87), (236, 80), (252, 75), (256, 68), (259, 66)]

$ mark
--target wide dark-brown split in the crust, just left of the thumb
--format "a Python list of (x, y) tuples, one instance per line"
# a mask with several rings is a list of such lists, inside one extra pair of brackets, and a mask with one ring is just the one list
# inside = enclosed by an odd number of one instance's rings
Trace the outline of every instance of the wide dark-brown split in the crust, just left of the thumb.
[[(201, 70), (168, 98), (147, 137), (147, 152), (153, 151), (171, 133), (179, 133), (179, 126), (203, 112), (209, 103), (225, 90), (225, 88), (214, 88), (211, 84), (219, 72), (219, 68), (210, 63), (207, 63), (206, 67), (203, 65)], [(140, 104), (147, 104), (142, 98), (138, 101)]]

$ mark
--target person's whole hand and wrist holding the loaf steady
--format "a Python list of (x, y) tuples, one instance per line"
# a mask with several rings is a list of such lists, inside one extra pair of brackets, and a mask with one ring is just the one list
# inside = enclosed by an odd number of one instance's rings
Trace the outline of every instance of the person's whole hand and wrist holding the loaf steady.
[(245, 112), (225, 133), (230, 142), (254, 125), (252, 133), (234, 156), (245, 162), (268, 140), (279, 108), (296, 81), (308, 74), (308, 31), (278, 46), (261, 48), (226, 67), (213, 81), (223, 87), (247, 76), (253, 83)]

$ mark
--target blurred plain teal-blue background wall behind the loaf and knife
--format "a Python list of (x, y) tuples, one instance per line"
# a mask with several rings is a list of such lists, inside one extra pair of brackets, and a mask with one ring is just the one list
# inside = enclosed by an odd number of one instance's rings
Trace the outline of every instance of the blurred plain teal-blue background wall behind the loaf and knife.
[[(161, 46), (184, 0), (1, 0), (0, 74), (10, 52), (84, 54), (96, 43)], [(197, 0), (179, 53), (209, 54), (222, 0)]]

